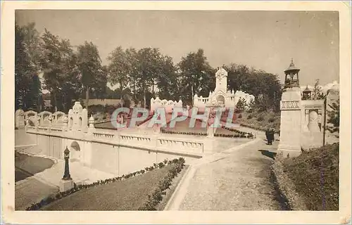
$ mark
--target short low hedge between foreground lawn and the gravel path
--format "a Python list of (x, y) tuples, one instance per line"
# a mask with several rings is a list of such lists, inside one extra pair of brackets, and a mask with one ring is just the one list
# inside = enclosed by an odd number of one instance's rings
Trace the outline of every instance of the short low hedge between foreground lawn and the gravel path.
[(161, 180), (153, 193), (148, 195), (148, 200), (144, 205), (139, 207), (138, 210), (141, 211), (155, 211), (156, 206), (163, 200), (163, 195), (166, 194), (166, 190), (170, 188), (172, 179), (179, 174), (184, 167), (184, 158), (180, 158), (178, 162), (175, 162), (172, 165), (172, 168), (169, 170), (168, 174)]

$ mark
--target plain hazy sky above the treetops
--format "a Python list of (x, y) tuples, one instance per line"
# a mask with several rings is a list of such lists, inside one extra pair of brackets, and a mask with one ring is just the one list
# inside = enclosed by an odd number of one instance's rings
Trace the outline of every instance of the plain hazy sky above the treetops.
[(201, 48), (214, 68), (244, 64), (283, 82), (293, 58), (301, 86), (339, 82), (339, 14), (333, 11), (21, 10), (15, 20), (73, 46), (92, 41), (103, 65), (118, 46), (158, 48), (175, 63)]

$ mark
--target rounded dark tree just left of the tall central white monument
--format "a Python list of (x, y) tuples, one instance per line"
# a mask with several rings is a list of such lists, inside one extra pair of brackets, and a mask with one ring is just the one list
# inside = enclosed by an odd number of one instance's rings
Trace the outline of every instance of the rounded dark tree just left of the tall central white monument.
[(208, 95), (215, 88), (215, 70), (210, 67), (203, 49), (190, 52), (182, 57), (180, 68), (180, 94), (186, 102), (193, 101), (197, 91), (199, 95)]

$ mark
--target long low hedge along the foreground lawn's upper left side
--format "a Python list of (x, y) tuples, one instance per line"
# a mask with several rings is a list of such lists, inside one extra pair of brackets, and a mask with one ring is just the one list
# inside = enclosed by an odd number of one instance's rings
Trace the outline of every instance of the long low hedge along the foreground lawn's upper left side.
[[(108, 184), (108, 183), (112, 183), (112, 182), (115, 182), (115, 181), (122, 181), (122, 180), (125, 180), (125, 179), (129, 179), (131, 177), (134, 177), (134, 176), (138, 176), (140, 174), (144, 174), (146, 172), (150, 172), (153, 169), (163, 168), (166, 165), (175, 165), (175, 167), (172, 167), (172, 169), (170, 169), (170, 171), (175, 170), (178, 173), (180, 171), (178, 168), (181, 167), (181, 169), (182, 169), (184, 167), (184, 158), (178, 158), (178, 159), (174, 159), (174, 160), (164, 160), (163, 162), (154, 163), (151, 167), (145, 167), (144, 169), (141, 169), (141, 170), (139, 170), (137, 172), (132, 172), (130, 174), (124, 174), (122, 176), (117, 176), (117, 177), (109, 178), (109, 179), (105, 179), (105, 180), (99, 180), (99, 181), (96, 181), (96, 182), (94, 182), (92, 184), (83, 184), (83, 185), (79, 185), (79, 186), (74, 184), (74, 187), (71, 188), (70, 190), (64, 191), (64, 192), (60, 192), (60, 193), (56, 193), (56, 195), (49, 195), (48, 197), (43, 198), (39, 203), (34, 203), (30, 207), (27, 207), (26, 210), (27, 211), (40, 210), (44, 205), (48, 205), (49, 203), (52, 203), (55, 200), (59, 200), (61, 198), (64, 198), (64, 197), (66, 197), (66, 196), (68, 196), (70, 194), (73, 194), (73, 193), (75, 193), (77, 191), (80, 191), (82, 189), (87, 189), (87, 188), (90, 188), (90, 187), (93, 187), (93, 186)], [(173, 173), (175, 173), (175, 172), (172, 172), (172, 174)], [(175, 177), (175, 176), (173, 176), (173, 177)]]

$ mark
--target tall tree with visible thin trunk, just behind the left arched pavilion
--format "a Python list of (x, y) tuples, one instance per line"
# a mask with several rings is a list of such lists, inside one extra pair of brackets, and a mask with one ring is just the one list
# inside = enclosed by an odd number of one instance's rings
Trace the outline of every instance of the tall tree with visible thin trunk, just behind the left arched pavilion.
[(77, 48), (77, 66), (80, 70), (80, 80), (86, 93), (85, 105), (89, 105), (89, 91), (96, 94), (105, 93), (107, 76), (101, 65), (98, 48), (92, 43), (84, 41)]

